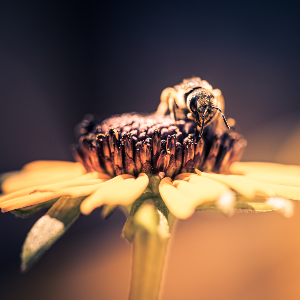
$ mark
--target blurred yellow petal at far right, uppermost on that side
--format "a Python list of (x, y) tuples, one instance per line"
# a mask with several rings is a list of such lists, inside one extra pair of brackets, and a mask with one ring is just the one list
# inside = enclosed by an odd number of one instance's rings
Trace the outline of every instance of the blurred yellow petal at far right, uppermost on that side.
[(230, 166), (229, 171), (232, 174), (239, 175), (246, 175), (249, 173), (280, 173), (290, 176), (300, 176), (300, 166), (252, 161), (236, 161)]

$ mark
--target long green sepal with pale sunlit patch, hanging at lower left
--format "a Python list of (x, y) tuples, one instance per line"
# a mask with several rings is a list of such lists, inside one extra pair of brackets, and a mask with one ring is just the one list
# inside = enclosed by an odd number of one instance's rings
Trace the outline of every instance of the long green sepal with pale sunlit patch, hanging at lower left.
[(84, 197), (60, 197), (29, 231), (22, 247), (21, 270), (26, 271), (79, 217)]

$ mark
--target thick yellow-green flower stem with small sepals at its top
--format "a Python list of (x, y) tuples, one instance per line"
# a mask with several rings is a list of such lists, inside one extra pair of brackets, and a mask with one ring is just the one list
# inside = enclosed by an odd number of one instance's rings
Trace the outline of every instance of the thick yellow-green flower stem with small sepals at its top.
[(137, 203), (135, 213), (125, 224), (124, 235), (133, 244), (129, 300), (158, 299), (170, 227), (175, 220), (172, 214), (167, 220), (161, 212), (163, 206), (162, 200), (155, 197)]

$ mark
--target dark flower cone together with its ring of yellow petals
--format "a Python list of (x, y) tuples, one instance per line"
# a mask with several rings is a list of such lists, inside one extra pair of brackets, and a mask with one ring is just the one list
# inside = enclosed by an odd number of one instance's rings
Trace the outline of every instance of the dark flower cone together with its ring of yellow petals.
[(2, 212), (61, 196), (88, 196), (80, 206), (83, 214), (104, 204), (127, 206), (143, 194), (152, 177), (162, 179), (159, 194), (171, 213), (182, 219), (215, 200), (217, 207), (225, 201), (228, 210), (236, 198), (231, 190), (256, 201), (261, 201), (257, 197), (300, 199), (300, 167), (235, 162), (246, 145), (235, 131), (215, 134), (205, 128), (197, 140), (193, 120), (132, 113), (114, 116), (101, 125), (87, 116), (76, 133), (79, 144), (73, 146), (73, 153), (79, 162), (25, 165), (2, 184)]

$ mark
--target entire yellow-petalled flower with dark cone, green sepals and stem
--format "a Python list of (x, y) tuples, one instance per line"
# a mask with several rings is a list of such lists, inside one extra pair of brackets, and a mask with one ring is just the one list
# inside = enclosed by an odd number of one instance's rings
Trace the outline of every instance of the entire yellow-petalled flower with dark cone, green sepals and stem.
[[(234, 121), (230, 121), (234, 128)], [(277, 210), (292, 215), (300, 200), (300, 167), (240, 163), (246, 146), (234, 130), (206, 127), (197, 138), (193, 120), (125, 114), (76, 128), (77, 162), (36, 161), (1, 185), (2, 212), (22, 217), (50, 207), (29, 232), (25, 270), (77, 219), (104, 205), (128, 215), (124, 236), (134, 245), (130, 299), (158, 296), (164, 255), (176, 218), (195, 210)]]

